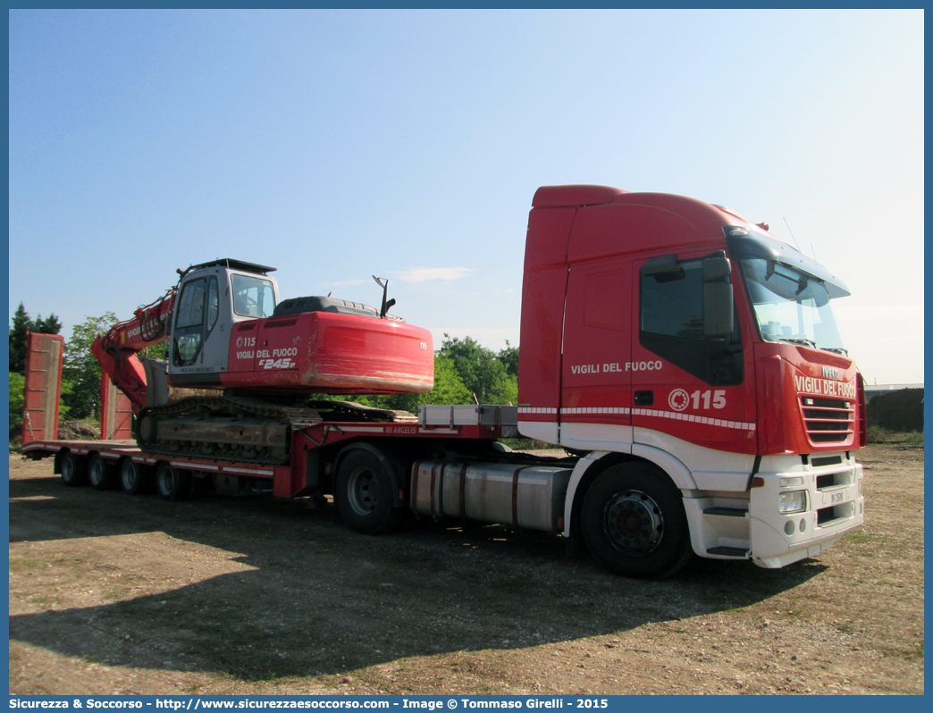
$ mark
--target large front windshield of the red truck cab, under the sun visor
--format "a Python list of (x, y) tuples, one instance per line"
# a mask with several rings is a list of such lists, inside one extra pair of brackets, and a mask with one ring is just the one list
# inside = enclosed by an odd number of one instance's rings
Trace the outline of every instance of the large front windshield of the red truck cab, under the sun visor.
[(770, 259), (741, 265), (761, 339), (846, 353), (822, 280)]

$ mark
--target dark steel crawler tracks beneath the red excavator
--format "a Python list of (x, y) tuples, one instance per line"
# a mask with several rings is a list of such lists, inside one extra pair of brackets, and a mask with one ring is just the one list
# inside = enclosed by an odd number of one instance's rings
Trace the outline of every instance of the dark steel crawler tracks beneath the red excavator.
[(143, 409), (135, 436), (148, 454), (277, 466), (289, 463), (292, 431), (328, 421), (411, 423), (417, 417), (349, 401), (189, 397)]

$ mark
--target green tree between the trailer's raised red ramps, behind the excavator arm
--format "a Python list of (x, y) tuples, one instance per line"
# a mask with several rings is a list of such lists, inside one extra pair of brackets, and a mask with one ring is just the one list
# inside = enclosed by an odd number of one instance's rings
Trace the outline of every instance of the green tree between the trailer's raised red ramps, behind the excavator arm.
[(117, 315), (112, 312), (99, 317), (86, 316), (65, 344), (63, 378), (70, 391), (62, 394), (62, 402), (73, 418), (96, 417), (100, 413), (101, 365), (91, 354), (91, 344), (115, 324)]

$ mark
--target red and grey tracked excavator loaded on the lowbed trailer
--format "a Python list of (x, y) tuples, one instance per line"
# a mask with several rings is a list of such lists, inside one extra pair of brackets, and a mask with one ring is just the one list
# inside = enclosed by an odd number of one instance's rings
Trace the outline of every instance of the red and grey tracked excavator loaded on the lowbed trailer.
[[(274, 271), (234, 259), (179, 270), (176, 287), (95, 340), (94, 357), (132, 402), (144, 450), (285, 463), (296, 427), (404, 420), (310, 395), (431, 390), (431, 333), (388, 314), (388, 281), (374, 277), (381, 309), (329, 296), (280, 301)], [(161, 342), (164, 361), (138, 357)], [(169, 402), (169, 386), (215, 391)]]

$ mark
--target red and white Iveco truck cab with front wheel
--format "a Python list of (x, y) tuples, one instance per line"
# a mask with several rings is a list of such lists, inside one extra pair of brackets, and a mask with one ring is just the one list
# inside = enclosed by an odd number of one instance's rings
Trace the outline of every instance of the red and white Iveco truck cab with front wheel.
[(558, 186), (524, 271), (519, 430), (587, 454), (565, 534), (605, 564), (689, 538), (783, 566), (862, 522), (864, 397), (826, 268), (721, 206)]

